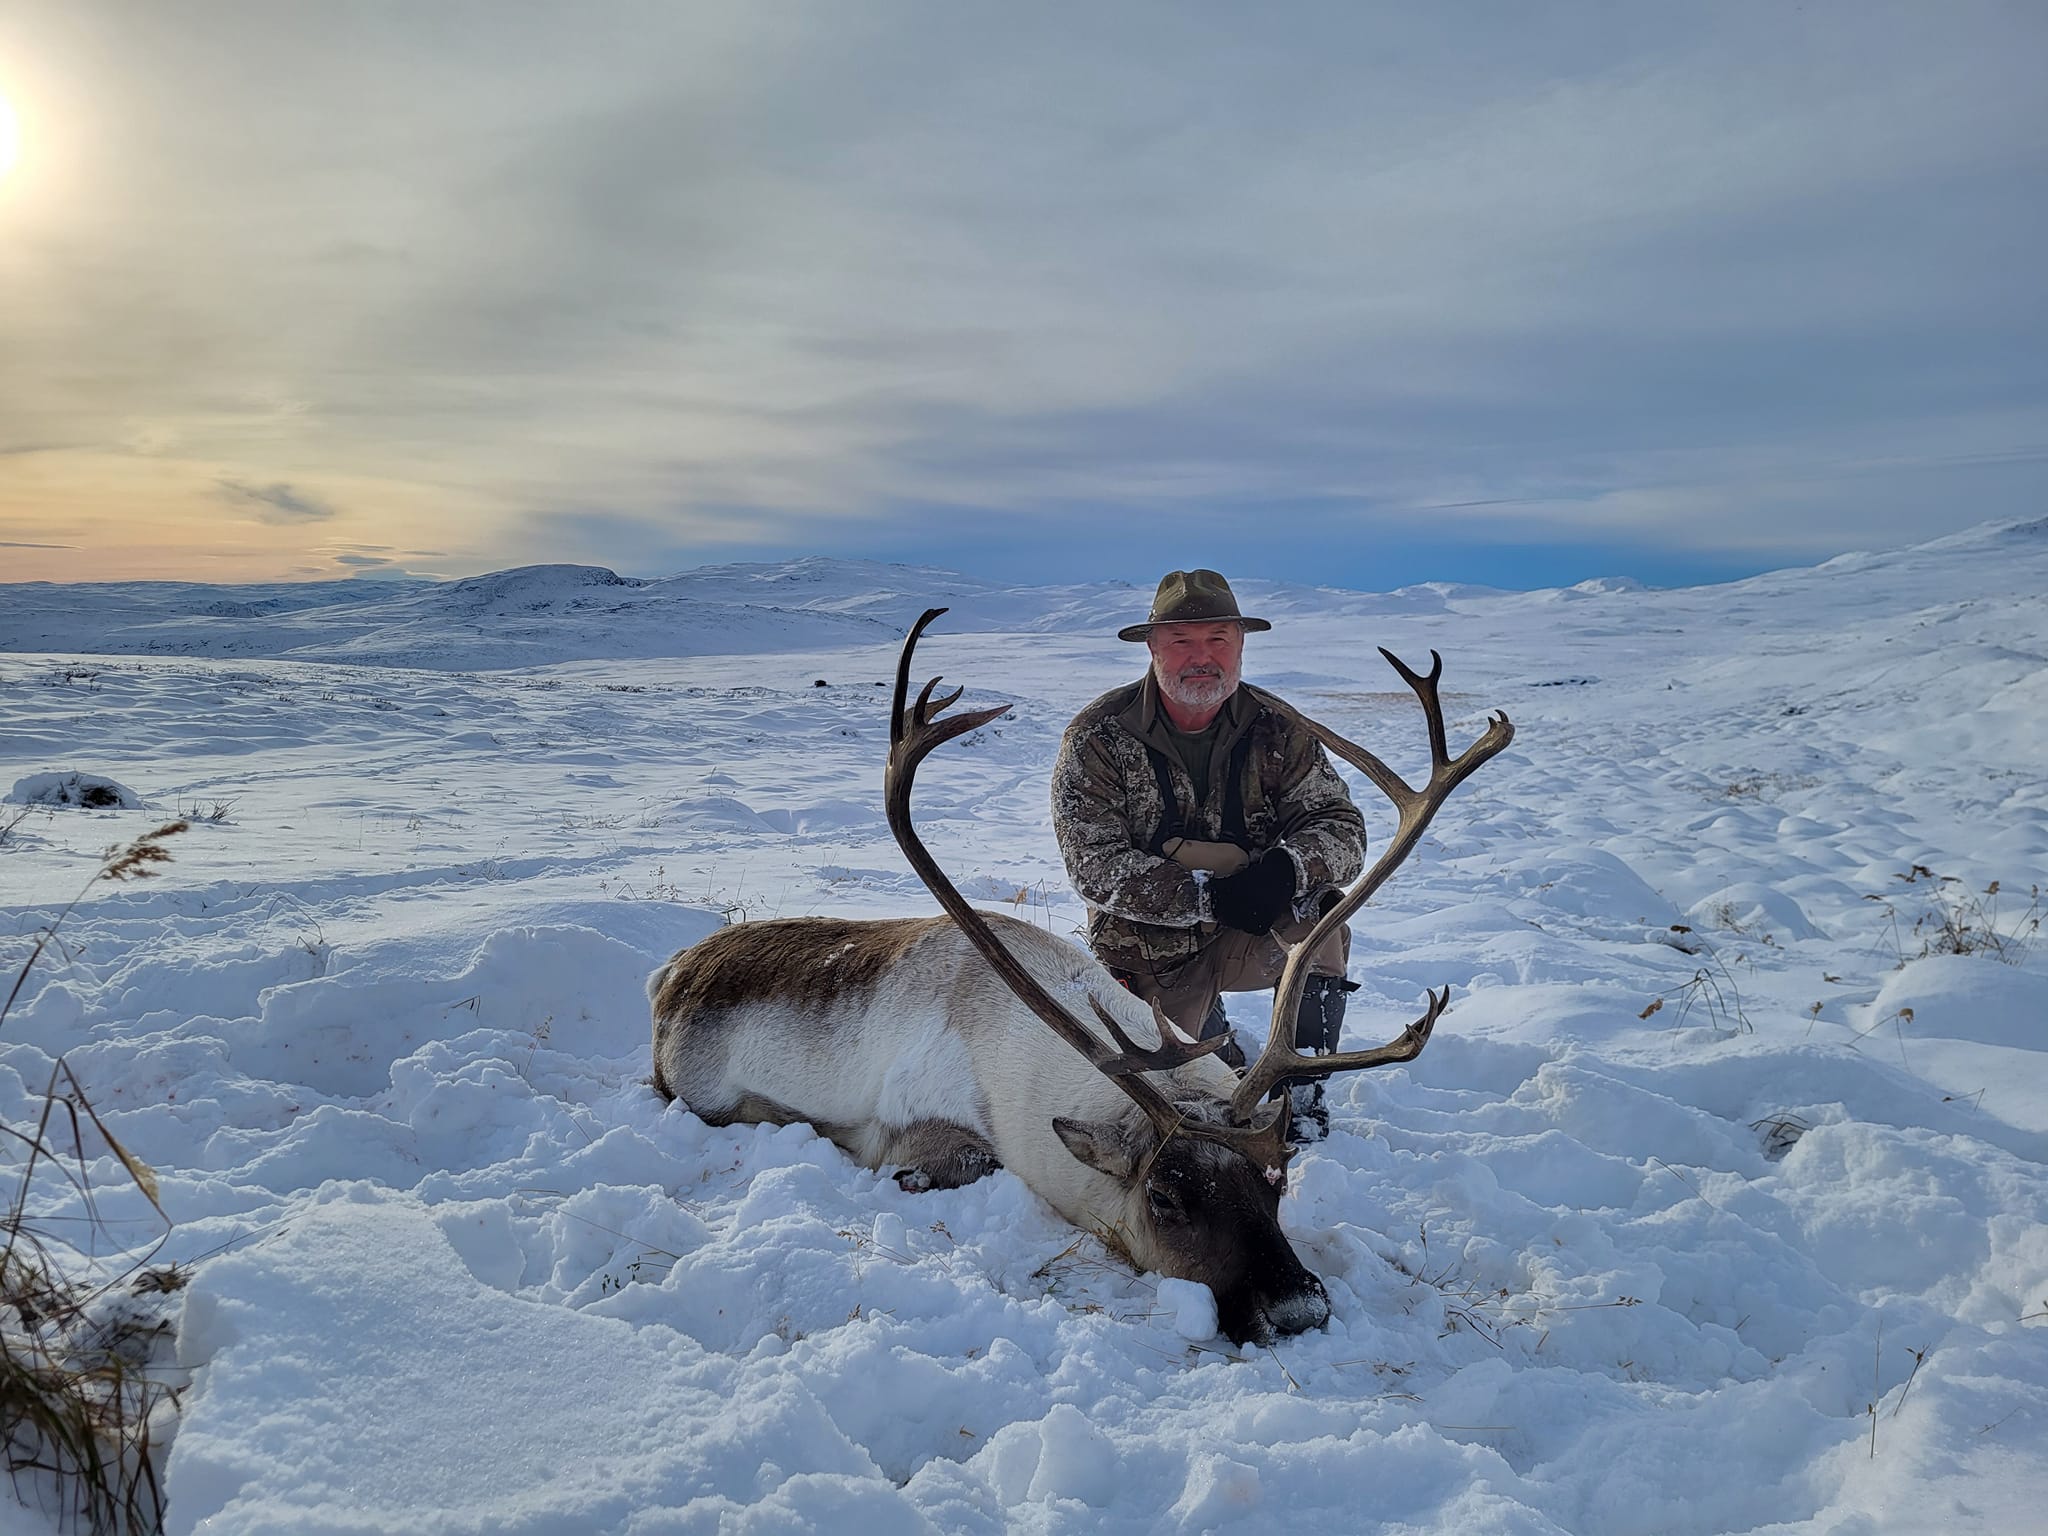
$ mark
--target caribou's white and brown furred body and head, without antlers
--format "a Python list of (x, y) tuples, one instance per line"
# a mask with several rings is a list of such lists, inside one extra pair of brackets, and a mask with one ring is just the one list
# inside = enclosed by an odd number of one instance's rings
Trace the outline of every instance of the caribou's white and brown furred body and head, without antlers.
[[(1090, 999), (1133, 1040), (1159, 1040), (1151, 1008), (1085, 950), (981, 915), (1104, 1044)], [(1161, 1145), (950, 918), (723, 928), (657, 969), (647, 995), (655, 1090), (711, 1124), (807, 1120), (866, 1167), (895, 1167), (909, 1190), (1008, 1167), (1139, 1268), (1208, 1284), (1237, 1341), (1329, 1317), (1280, 1233), (1284, 1169), (1200, 1137)], [(1188, 1120), (1221, 1124), (1237, 1073), (1206, 1055), (1149, 1081)]]

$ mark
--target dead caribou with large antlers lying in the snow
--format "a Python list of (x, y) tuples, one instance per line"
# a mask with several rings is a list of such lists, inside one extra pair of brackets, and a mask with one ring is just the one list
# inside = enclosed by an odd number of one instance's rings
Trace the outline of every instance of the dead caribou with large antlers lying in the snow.
[(944, 608), (928, 610), (897, 657), (883, 793), (889, 827), (944, 915), (778, 918), (723, 928), (647, 979), (653, 1085), (709, 1124), (805, 1120), (905, 1190), (944, 1190), (1010, 1169), (1053, 1210), (1139, 1270), (1198, 1280), (1233, 1343), (1270, 1343), (1329, 1321), (1323, 1282), (1280, 1231), (1288, 1083), (1413, 1061), (1450, 987), (1421, 1018), (1362, 1051), (1292, 1044), (1307, 956), (1407, 860), (1450, 793), (1513, 739), (1505, 715), (1456, 758), (1438, 678), (1380, 655), (1421, 700), (1430, 778), (1411, 788), (1323, 725), (1323, 745), (1397, 811), (1378, 860), (1331, 899), (1274, 989), (1272, 1026), (1239, 1077), (1157, 1006), (1124, 991), (1087, 950), (973, 907), (909, 817), (918, 764), (989, 725), (1008, 705), (946, 715), (965, 690), (907, 702), (911, 655)]

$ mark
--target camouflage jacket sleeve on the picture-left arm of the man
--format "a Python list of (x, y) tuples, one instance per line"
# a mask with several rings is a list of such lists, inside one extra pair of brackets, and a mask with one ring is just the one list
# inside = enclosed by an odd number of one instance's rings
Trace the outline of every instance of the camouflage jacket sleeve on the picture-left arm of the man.
[(1067, 731), (1053, 764), (1053, 834), (1081, 899), (1126, 922), (1194, 928), (1208, 895), (1190, 870), (1141, 846), (1122, 774), (1094, 731)]

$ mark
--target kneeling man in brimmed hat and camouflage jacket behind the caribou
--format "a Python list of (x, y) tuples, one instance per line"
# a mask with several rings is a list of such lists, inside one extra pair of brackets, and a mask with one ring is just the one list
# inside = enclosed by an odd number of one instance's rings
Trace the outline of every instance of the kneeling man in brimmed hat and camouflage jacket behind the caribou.
[[(1169, 571), (1145, 623), (1116, 633), (1145, 641), (1151, 668), (1073, 717), (1053, 768), (1053, 831), (1087, 903), (1087, 942), (1202, 1038), (1229, 1028), (1219, 993), (1280, 979), (1286, 944), (1366, 856), (1364, 817), (1315, 733), (1239, 680), (1245, 635), (1264, 629), (1217, 571)], [(1350, 948), (1339, 928), (1311, 954), (1298, 1049), (1335, 1051), (1356, 991)], [(1292, 1130), (1329, 1133), (1321, 1081), (1294, 1090)]]

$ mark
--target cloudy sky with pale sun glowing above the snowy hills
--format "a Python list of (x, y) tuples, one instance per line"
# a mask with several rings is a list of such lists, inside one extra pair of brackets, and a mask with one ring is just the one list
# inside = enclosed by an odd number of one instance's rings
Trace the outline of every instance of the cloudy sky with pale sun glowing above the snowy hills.
[(0, 580), (2040, 516), (2048, 10), (0, 4)]

